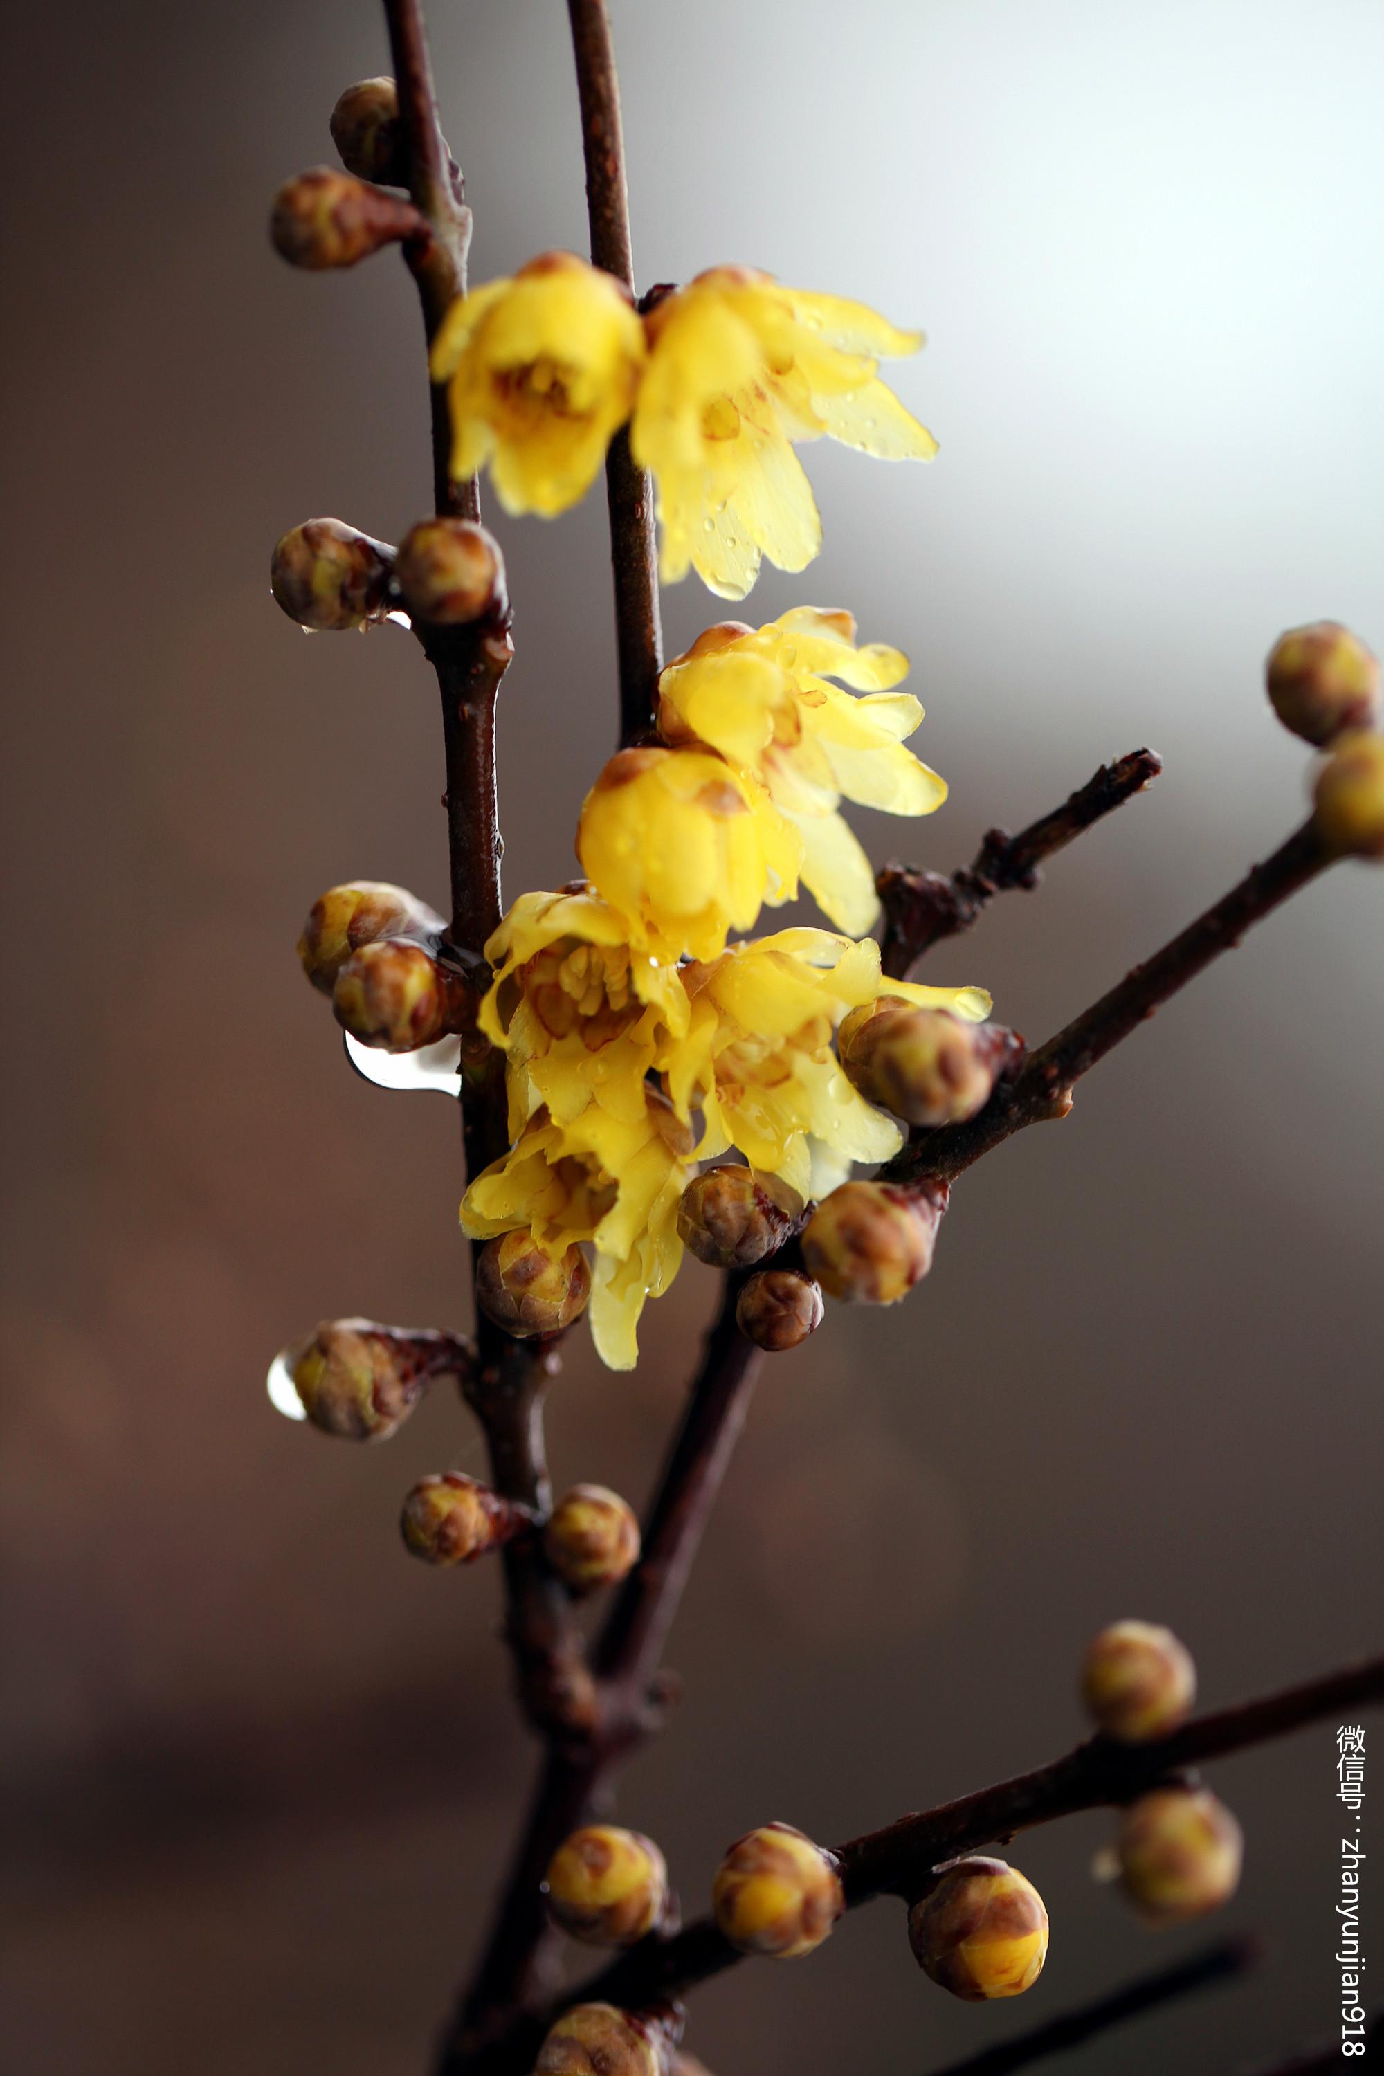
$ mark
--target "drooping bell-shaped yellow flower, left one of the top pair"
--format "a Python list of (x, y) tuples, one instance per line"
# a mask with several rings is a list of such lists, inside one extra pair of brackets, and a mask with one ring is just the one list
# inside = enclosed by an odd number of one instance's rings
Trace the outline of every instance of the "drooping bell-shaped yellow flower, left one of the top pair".
[(432, 345), (432, 378), (450, 384), (452, 475), (490, 463), (506, 513), (564, 513), (633, 411), (643, 359), (625, 289), (575, 253), (539, 253), (459, 297)]

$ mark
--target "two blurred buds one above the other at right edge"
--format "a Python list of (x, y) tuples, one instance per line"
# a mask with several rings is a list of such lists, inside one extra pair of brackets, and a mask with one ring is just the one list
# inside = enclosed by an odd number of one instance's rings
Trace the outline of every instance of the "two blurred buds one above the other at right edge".
[(1268, 698), (1284, 729), (1326, 749), (1313, 820), (1336, 857), (1384, 857), (1380, 660), (1336, 621), (1291, 627), (1270, 650)]

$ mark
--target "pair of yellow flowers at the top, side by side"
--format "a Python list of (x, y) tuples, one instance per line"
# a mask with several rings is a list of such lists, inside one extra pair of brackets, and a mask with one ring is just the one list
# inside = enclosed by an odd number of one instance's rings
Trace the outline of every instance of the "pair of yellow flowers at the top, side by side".
[(664, 583), (695, 569), (722, 598), (745, 598), (764, 556), (797, 571), (822, 548), (797, 442), (936, 455), (878, 374), (921, 343), (863, 303), (737, 266), (697, 274), (641, 318), (614, 276), (539, 253), (452, 305), (432, 374), (448, 384), (452, 473), (488, 467), (515, 515), (575, 504), (629, 426), (658, 490)]

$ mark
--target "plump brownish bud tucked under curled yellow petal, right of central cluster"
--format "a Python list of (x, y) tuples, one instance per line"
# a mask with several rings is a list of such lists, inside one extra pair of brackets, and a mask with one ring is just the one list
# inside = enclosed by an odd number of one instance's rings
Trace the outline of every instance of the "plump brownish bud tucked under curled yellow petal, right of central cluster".
[(853, 1009), (836, 1032), (847, 1080), (911, 1125), (961, 1125), (990, 1100), (994, 1046), (979, 1023), (898, 996)]

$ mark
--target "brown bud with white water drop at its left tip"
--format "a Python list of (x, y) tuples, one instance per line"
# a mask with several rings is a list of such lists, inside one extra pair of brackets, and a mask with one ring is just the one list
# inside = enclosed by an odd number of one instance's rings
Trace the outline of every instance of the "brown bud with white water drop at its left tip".
[(288, 1412), (347, 1441), (384, 1441), (409, 1418), (434, 1376), (461, 1376), (467, 1349), (450, 1333), (380, 1327), (371, 1318), (324, 1318), (315, 1333), (274, 1358), (270, 1395)]

